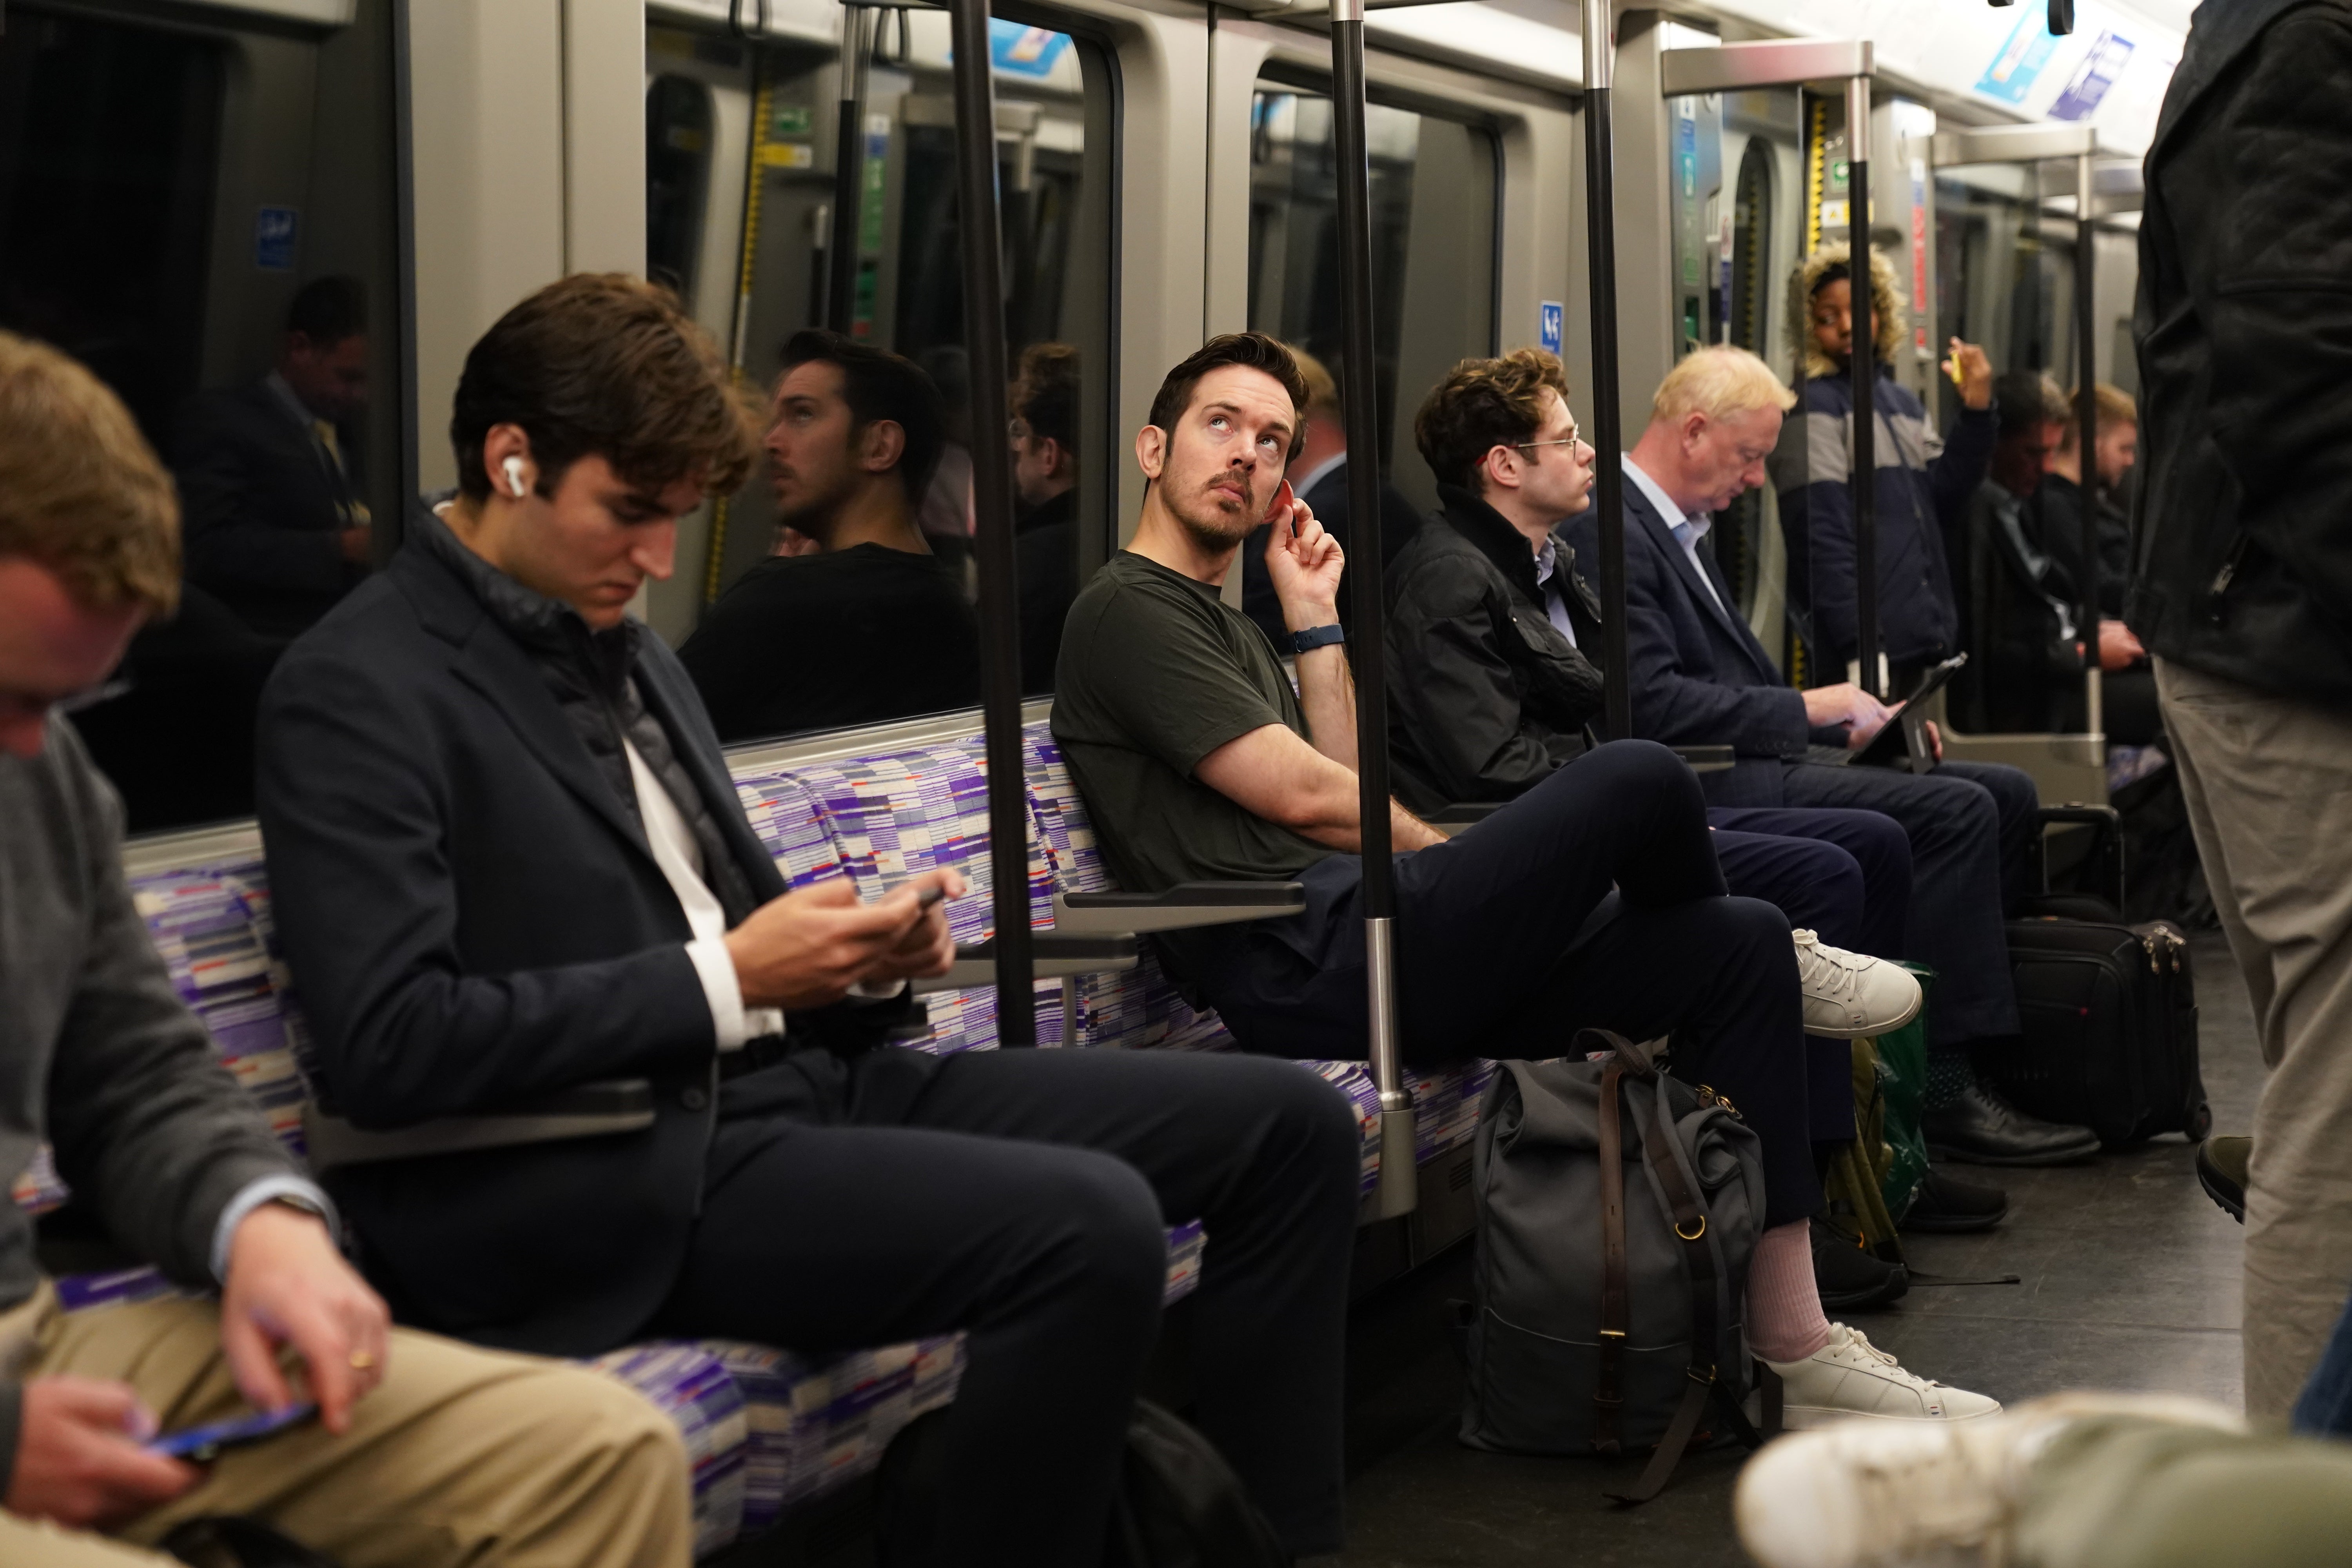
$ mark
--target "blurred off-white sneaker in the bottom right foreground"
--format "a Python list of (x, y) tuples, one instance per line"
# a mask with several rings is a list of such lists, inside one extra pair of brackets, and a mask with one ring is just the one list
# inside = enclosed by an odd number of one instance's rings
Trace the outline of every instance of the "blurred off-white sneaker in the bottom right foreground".
[(2244, 1432), (2171, 1394), (2053, 1394), (1973, 1422), (1844, 1422), (1766, 1443), (1731, 1500), (1764, 1568), (1999, 1563), (2034, 1460), (2067, 1422), (2138, 1415)]

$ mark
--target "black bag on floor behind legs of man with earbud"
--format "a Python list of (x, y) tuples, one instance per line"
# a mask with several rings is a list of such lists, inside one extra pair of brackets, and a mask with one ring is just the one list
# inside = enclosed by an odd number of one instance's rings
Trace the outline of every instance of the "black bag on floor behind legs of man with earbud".
[[(891, 1439), (875, 1481), (880, 1568), (936, 1561), (934, 1544), (955, 1521), (938, 1516), (941, 1422), (931, 1410)], [(1200, 1432), (1138, 1399), (1127, 1422), (1120, 1495), (1110, 1505), (1103, 1568), (1289, 1568), (1291, 1554), (1242, 1490), (1225, 1458)]]

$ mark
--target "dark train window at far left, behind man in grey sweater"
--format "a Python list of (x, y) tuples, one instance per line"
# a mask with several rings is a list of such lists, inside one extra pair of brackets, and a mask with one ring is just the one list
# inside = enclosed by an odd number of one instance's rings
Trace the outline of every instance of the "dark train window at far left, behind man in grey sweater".
[(181, 491), (181, 609), (75, 712), (134, 832), (252, 811), (261, 682), (402, 494), (393, 0), (205, 16), (0, 33), (0, 327), (113, 386)]

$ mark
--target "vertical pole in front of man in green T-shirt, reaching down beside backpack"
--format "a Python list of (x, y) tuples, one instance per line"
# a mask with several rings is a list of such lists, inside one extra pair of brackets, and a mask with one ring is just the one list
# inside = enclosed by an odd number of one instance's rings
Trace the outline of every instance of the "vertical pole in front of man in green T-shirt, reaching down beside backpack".
[(1348, 637), (1355, 668), (1355, 780), (1364, 853), (1364, 973), (1371, 1081), (1381, 1091), (1378, 1218), (1414, 1208), (1414, 1100), (1397, 1046), (1395, 863), (1388, 835), (1388, 658), (1381, 597), (1381, 411), (1371, 346), (1371, 155), (1364, 146), (1364, 0), (1331, 7), (1338, 143), (1341, 414), (1348, 423)]

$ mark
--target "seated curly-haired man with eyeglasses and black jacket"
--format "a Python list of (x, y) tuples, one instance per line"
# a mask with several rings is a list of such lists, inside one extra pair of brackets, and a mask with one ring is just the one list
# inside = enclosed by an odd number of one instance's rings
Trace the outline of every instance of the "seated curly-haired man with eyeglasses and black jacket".
[[(1559, 360), (1519, 348), (1463, 360), (1414, 418), (1444, 508), (1388, 571), (1385, 654), (1392, 780), (1425, 816), (1517, 799), (1595, 745), (1602, 607), (1564, 538), (1592, 505), (1592, 449), (1566, 397)], [(1799, 931), (1813, 1143), (1835, 1147), (1853, 1135), (1844, 950), (1903, 954), (1910, 842), (1877, 811), (1710, 806), (1708, 825), (1731, 891)], [(1990, 1227), (2004, 1201), (1983, 1190), (1966, 1208)], [(1813, 1241), (1825, 1305), (1882, 1305), (1907, 1288), (1900, 1267), (1828, 1225)]]

